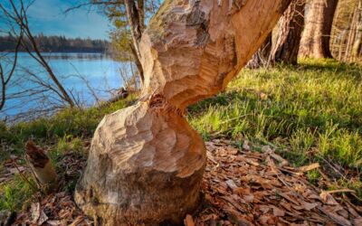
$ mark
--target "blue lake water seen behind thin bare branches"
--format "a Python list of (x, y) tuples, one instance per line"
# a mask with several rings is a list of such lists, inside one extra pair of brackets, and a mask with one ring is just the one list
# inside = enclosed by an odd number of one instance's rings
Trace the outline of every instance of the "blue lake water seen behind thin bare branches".
[[(13, 55), (12, 55), (13, 54)], [(14, 53), (8, 53), (8, 59)], [(84, 106), (91, 106), (98, 99), (110, 99), (113, 92), (122, 86), (120, 71), (130, 71), (129, 62), (113, 61), (101, 53), (43, 53), (54, 74), (67, 89)], [(3, 61), (3, 60), (2, 60)], [(2, 62), (5, 71), (10, 70), (10, 64)], [(28, 53), (20, 52), (14, 76), (6, 89), (8, 99), (5, 108), (0, 112), (0, 118), (11, 118), (19, 113), (27, 114), (36, 109), (52, 108), (60, 99), (51, 91), (40, 92), (42, 82), (51, 82), (46, 72)], [(33, 73), (34, 76), (31, 74)], [(36, 76), (36, 77), (35, 77)], [(87, 81), (85, 81), (87, 80)], [(90, 88), (93, 91), (90, 91)], [(1, 88), (0, 88), (1, 89)], [(39, 93), (38, 93), (39, 91)], [(29, 113), (30, 114), (30, 113)]]

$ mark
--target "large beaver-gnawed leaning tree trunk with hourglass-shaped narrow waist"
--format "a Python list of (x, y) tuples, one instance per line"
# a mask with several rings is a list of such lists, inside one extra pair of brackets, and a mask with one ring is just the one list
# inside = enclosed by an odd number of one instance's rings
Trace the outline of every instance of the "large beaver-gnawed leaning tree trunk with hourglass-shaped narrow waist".
[(154, 225), (195, 210), (206, 155), (185, 108), (225, 88), (289, 3), (165, 1), (140, 42), (143, 98), (93, 137), (74, 196), (84, 212), (103, 225)]

